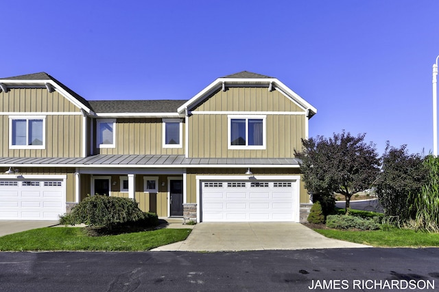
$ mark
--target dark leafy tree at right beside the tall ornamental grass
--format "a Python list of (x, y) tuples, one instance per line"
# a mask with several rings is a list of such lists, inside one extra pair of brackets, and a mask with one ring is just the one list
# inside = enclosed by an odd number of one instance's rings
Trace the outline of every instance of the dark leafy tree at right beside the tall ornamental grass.
[(410, 206), (427, 183), (427, 168), (418, 154), (408, 154), (407, 145), (399, 148), (389, 142), (381, 157), (382, 168), (375, 183), (375, 193), (386, 216), (399, 215), (400, 220), (414, 216)]

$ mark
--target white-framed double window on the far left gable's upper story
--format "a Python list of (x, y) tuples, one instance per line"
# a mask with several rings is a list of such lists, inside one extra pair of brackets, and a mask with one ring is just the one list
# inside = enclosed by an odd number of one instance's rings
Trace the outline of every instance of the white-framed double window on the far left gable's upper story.
[(9, 148), (44, 149), (45, 116), (10, 116)]

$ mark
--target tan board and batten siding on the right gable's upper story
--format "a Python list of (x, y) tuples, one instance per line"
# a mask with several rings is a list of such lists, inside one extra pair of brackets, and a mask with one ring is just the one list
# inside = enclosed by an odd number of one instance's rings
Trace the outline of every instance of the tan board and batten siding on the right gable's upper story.
[[(215, 114), (207, 113), (209, 111), (214, 111)], [(266, 149), (228, 149), (228, 114), (221, 114), (220, 111), (266, 114)], [(270, 114), (270, 111), (274, 113)], [(197, 112), (205, 114), (197, 114)], [(281, 114), (282, 112), (285, 114)], [(305, 137), (305, 119), (305, 110), (276, 90), (272, 92), (267, 88), (228, 88), (226, 92), (218, 90), (193, 110), (193, 115), (189, 117), (189, 157), (294, 157), (294, 149), (302, 147), (300, 138)]]

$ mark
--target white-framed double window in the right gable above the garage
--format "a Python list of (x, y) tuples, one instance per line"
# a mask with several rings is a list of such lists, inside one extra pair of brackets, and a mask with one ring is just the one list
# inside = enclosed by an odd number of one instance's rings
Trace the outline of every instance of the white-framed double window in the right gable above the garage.
[(229, 149), (265, 149), (265, 116), (228, 116)]

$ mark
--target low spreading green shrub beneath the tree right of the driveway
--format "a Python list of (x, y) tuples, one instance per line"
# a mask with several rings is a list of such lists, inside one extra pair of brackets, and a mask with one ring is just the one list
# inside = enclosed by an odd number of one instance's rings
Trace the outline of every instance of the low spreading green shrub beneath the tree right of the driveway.
[(380, 224), (379, 217), (372, 219), (361, 218), (351, 215), (328, 215), (327, 227), (335, 229), (359, 229), (359, 230), (378, 230)]

